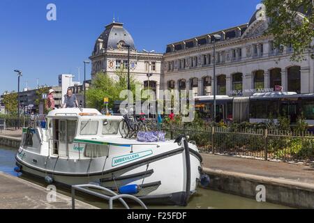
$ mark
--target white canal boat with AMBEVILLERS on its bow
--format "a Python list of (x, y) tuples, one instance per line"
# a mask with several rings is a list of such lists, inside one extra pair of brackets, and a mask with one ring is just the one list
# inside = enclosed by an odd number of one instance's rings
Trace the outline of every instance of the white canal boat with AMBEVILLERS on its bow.
[(186, 206), (201, 178), (197, 146), (176, 140), (140, 142), (119, 132), (122, 116), (96, 109), (54, 109), (23, 128), (16, 171), (47, 183), (92, 183), (145, 203)]

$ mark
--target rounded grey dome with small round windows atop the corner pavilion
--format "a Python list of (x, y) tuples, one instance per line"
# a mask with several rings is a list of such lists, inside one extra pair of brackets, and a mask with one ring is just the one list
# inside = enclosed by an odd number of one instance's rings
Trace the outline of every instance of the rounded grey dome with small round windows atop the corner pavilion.
[(104, 49), (121, 49), (123, 45), (130, 45), (130, 49), (135, 49), (134, 40), (130, 33), (124, 29), (124, 24), (112, 22), (105, 26), (105, 31), (96, 40), (94, 53), (97, 52), (98, 43), (102, 42)]

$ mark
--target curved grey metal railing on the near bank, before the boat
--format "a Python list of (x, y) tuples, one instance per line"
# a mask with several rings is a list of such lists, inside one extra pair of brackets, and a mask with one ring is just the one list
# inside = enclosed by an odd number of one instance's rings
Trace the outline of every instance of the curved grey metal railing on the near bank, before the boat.
[[(108, 196), (108, 195), (102, 194), (100, 192), (96, 192), (94, 190), (91, 190), (91, 189), (102, 190), (104, 192), (111, 194), (112, 196)], [(117, 194), (116, 192), (113, 192), (112, 190), (110, 190), (106, 187), (101, 187), (99, 185), (94, 185), (94, 184), (72, 185), (72, 188), (71, 188), (72, 209), (75, 209), (75, 190), (78, 190), (80, 192), (84, 192), (84, 193), (87, 193), (90, 195), (94, 195), (95, 197), (99, 197), (101, 199), (107, 200), (109, 203), (110, 209), (113, 209), (113, 201), (114, 200), (119, 200), (124, 205), (124, 207), (126, 209), (130, 209), (130, 207), (128, 206), (126, 201), (124, 201), (124, 199), (132, 199), (133, 201), (139, 203), (140, 206), (142, 206), (142, 208), (147, 209), (147, 206), (144, 204), (144, 202), (141, 201), (141, 199), (139, 199), (133, 195)]]

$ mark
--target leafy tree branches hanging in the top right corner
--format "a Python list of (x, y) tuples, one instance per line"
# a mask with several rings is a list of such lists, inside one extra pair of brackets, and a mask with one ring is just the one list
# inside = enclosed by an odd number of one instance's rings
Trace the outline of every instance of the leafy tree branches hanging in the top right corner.
[[(313, 0), (262, 0), (271, 18), (265, 34), (274, 36), (275, 47), (292, 45), (292, 61), (304, 60), (314, 38)], [(304, 17), (299, 17), (298, 12)], [(299, 19), (298, 19), (299, 17)]]

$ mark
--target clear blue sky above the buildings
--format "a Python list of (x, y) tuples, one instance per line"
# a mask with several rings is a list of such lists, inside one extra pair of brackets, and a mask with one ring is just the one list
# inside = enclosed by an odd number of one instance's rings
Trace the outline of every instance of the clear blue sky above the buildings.
[[(47, 21), (46, 6), (57, 6)], [(21, 87), (57, 85), (61, 73), (77, 76), (104, 26), (116, 21), (133, 36), (137, 50), (165, 52), (169, 43), (248, 22), (260, 0), (0, 0), (0, 93)], [(87, 68), (90, 78), (90, 66)]]

